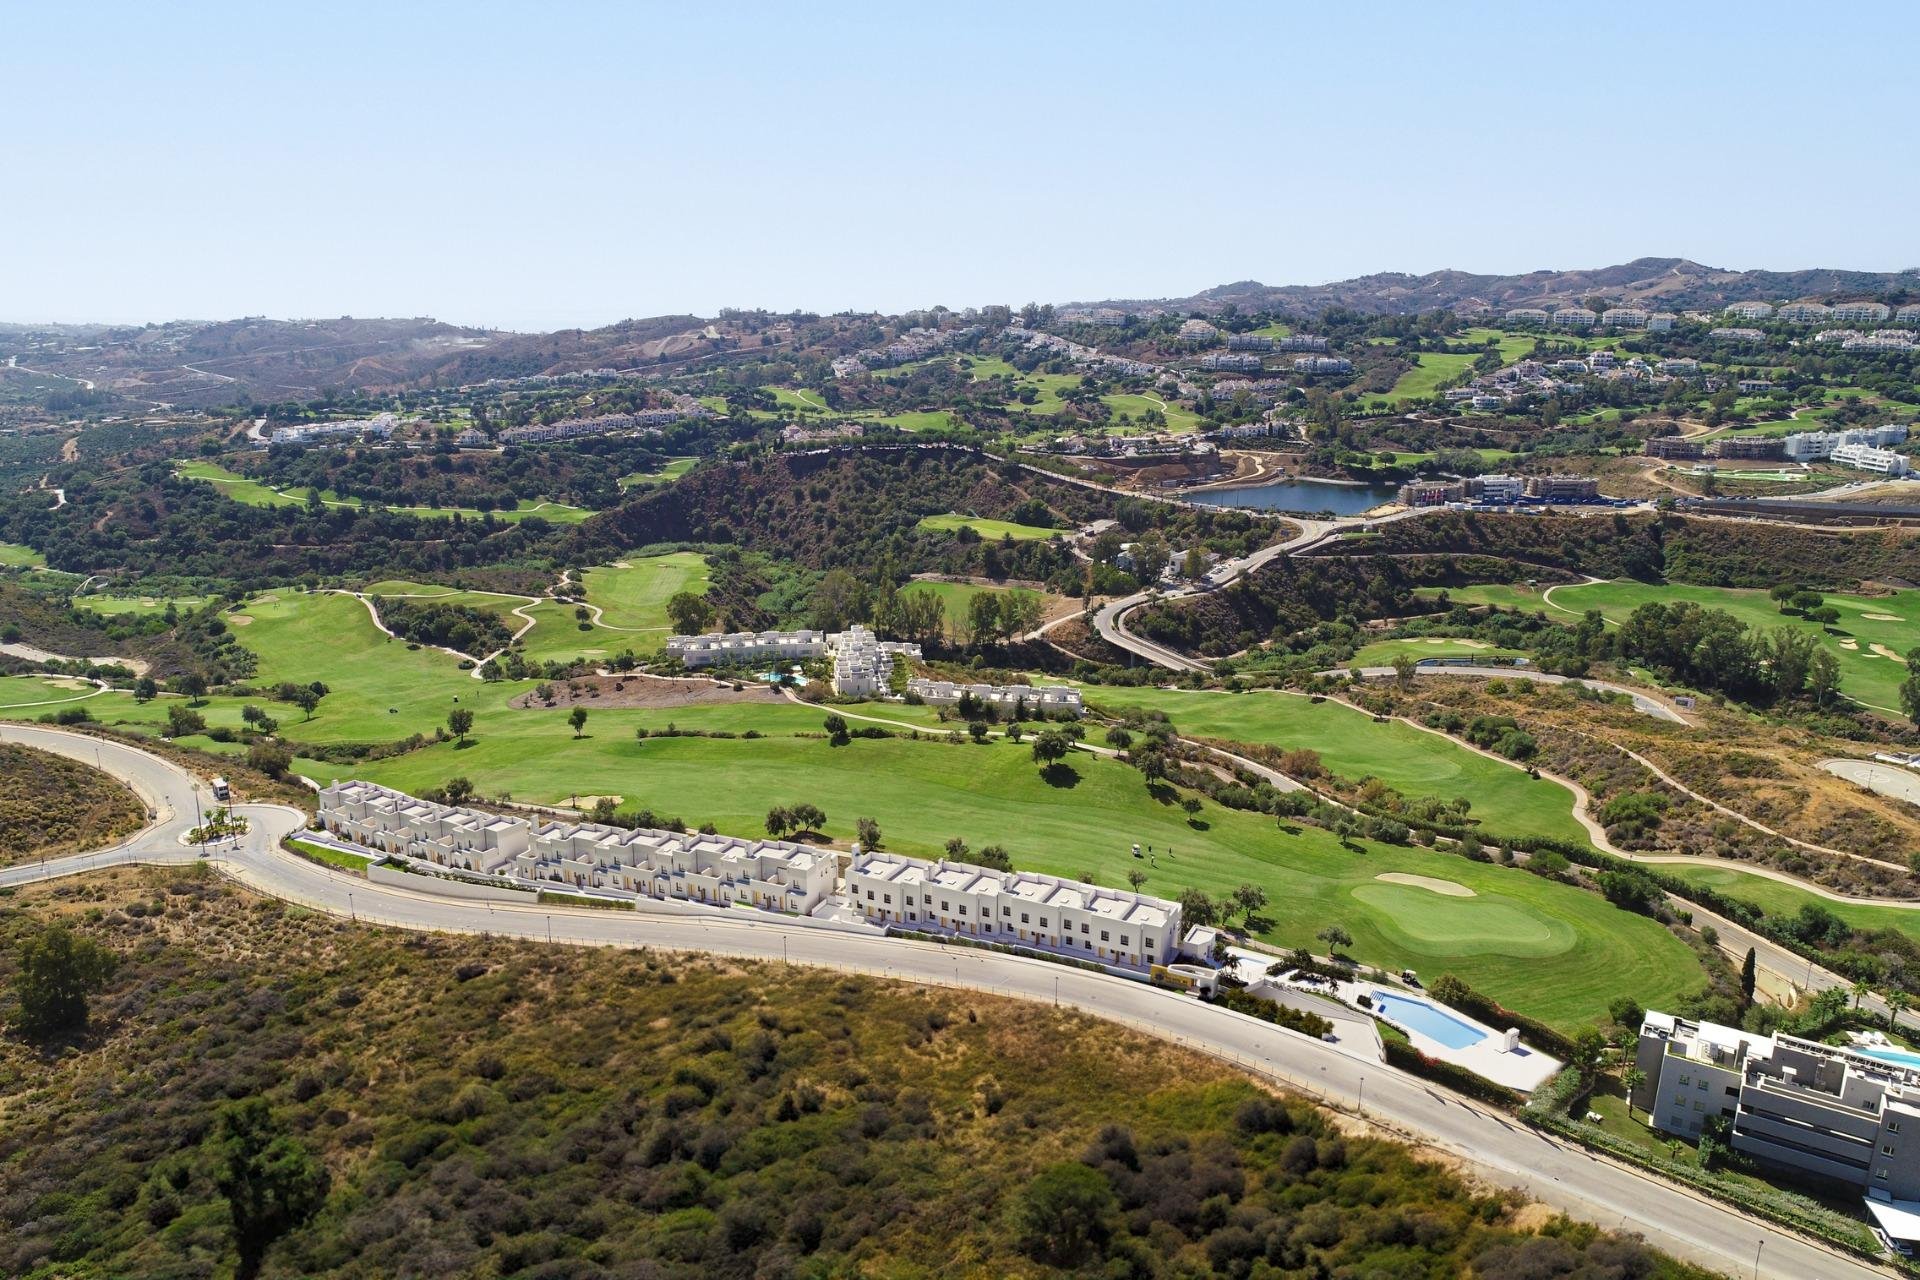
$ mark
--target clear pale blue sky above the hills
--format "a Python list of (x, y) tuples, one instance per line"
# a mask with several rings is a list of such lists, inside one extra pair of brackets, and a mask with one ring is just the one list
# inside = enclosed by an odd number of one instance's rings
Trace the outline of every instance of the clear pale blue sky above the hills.
[(0, 319), (1920, 265), (1920, 8), (1670, 10), (10, 6)]

